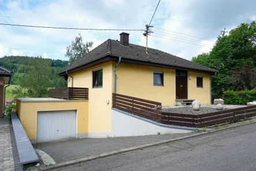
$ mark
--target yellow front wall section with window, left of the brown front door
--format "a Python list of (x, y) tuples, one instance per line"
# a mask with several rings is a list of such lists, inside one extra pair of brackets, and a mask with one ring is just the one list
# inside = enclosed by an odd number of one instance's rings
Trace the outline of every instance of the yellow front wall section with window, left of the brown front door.
[[(153, 85), (154, 70), (164, 72), (164, 86)], [(118, 94), (161, 102), (162, 106), (175, 105), (175, 69), (121, 62), (116, 73)]]

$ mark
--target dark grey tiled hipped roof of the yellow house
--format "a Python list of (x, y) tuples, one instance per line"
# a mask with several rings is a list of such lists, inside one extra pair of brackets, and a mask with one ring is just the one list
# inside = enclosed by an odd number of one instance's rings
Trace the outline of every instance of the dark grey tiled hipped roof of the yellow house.
[(215, 69), (196, 64), (195, 62), (184, 60), (183, 58), (176, 57), (175, 55), (168, 54), (157, 49), (148, 48), (147, 51), (148, 53), (146, 53), (146, 47), (143, 46), (130, 43), (129, 46), (123, 46), (117, 40), (108, 39), (106, 40), (106, 42), (103, 42), (94, 50), (79, 58), (71, 65), (67, 66), (60, 73), (64, 73), (66, 70), (72, 70), (79, 66), (86, 65), (92, 61), (96, 61), (103, 57), (106, 57), (107, 55), (114, 57), (118, 57), (121, 55), (122, 59), (127, 58), (130, 60), (152, 62), (155, 64), (164, 64), (180, 68), (202, 70), (212, 73), (217, 72), (217, 70)]

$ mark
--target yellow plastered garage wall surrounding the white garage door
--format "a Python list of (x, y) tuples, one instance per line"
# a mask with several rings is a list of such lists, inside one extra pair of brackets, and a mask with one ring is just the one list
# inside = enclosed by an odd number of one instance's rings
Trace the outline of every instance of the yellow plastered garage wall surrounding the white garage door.
[(30, 140), (36, 139), (38, 111), (77, 110), (76, 133), (88, 133), (88, 101), (66, 102), (20, 102), (17, 101), (16, 112)]

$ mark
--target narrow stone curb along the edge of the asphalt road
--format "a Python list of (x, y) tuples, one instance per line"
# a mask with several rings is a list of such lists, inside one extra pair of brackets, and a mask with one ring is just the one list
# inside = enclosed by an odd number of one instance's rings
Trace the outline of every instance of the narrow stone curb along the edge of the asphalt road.
[(208, 132), (199, 132), (199, 133), (195, 133), (193, 135), (177, 137), (177, 138), (169, 139), (169, 140), (162, 140), (160, 142), (144, 144), (142, 146), (123, 148), (121, 150), (116, 150), (116, 151), (112, 151), (112, 152), (109, 152), (109, 153), (103, 153), (103, 154), (93, 155), (91, 157), (84, 157), (84, 158), (74, 159), (72, 161), (57, 163), (56, 165), (46, 166), (45, 168), (40, 168), (39, 170), (51, 170), (51, 169), (62, 168), (64, 166), (69, 166), (69, 165), (73, 165), (73, 164), (76, 164), (76, 163), (92, 161), (94, 159), (99, 159), (99, 158), (103, 158), (103, 157), (109, 157), (111, 155), (125, 153), (125, 152), (129, 152), (129, 151), (133, 151), (133, 150), (139, 150), (140, 148), (147, 148), (147, 147), (152, 147), (152, 146), (158, 146), (158, 145), (165, 144), (165, 143), (176, 142), (177, 140), (183, 140), (183, 139), (187, 139), (187, 138), (190, 138), (190, 137), (196, 137), (196, 136), (205, 135), (205, 134), (209, 134), (209, 133), (219, 132), (219, 131), (222, 131), (222, 130), (225, 130), (225, 129), (231, 129), (231, 128), (240, 127), (240, 126), (248, 125), (248, 124), (254, 124), (254, 123), (256, 123), (256, 120), (254, 120), (254, 121), (246, 121), (244, 123), (236, 123), (235, 125), (230, 125), (228, 127), (224, 127), (224, 128), (220, 128), (220, 129), (213, 129), (213, 130), (208, 131)]

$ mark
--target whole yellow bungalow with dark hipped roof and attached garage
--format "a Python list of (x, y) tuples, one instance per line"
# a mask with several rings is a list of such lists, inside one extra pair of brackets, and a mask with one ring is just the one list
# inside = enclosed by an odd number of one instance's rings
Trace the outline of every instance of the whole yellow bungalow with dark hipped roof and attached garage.
[[(17, 99), (16, 111), (32, 143), (191, 132), (196, 128), (165, 124), (120, 110), (117, 101), (112, 102), (112, 94), (146, 99), (161, 106), (185, 105), (193, 99), (210, 104), (210, 80), (216, 72), (157, 49), (146, 52), (146, 47), (130, 44), (129, 34), (123, 32), (120, 41), (108, 39), (62, 70), (59, 75), (68, 80), (67, 88), (51, 90), (52, 98)], [(69, 95), (85, 96), (64, 98)], [(147, 107), (162, 112), (158, 105)]]

